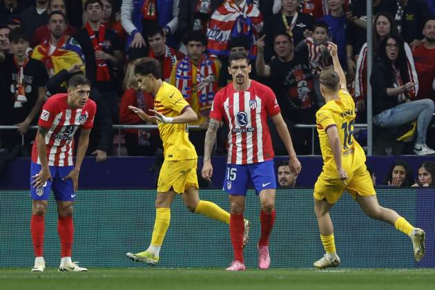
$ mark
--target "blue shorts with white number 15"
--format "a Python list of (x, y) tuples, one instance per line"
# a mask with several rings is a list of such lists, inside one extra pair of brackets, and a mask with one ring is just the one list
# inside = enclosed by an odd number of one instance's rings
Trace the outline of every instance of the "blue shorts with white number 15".
[(253, 164), (226, 164), (223, 190), (230, 195), (247, 195), (249, 177), (255, 193), (264, 189), (276, 189), (273, 160)]

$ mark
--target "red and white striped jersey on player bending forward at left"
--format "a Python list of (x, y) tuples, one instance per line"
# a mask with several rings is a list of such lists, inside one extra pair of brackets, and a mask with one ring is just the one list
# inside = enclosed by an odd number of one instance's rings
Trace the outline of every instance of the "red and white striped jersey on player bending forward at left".
[[(72, 166), (74, 133), (79, 128), (89, 129), (94, 125), (97, 105), (92, 99), (84, 108), (71, 108), (67, 94), (54, 95), (43, 105), (38, 126), (48, 129), (46, 135), (48, 166)], [(32, 147), (32, 162), (41, 164), (37, 141)]]

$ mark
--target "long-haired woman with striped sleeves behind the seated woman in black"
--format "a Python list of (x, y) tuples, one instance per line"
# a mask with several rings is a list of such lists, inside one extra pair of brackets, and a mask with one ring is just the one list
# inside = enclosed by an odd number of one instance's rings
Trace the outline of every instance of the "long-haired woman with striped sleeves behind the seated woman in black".
[[(374, 38), (373, 38), (373, 49), (374, 49), (374, 59), (376, 59), (376, 53), (380, 46), (381, 41), (387, 37), (387, 35), (397, 35), (396, 23), (391, 14), (388, 12), (380, 12), (374, 18)], [(414, 83), (414, 86), (409, 90), (409, 97), (413, 98), (418, 92), (418, 77), (416, 68), (414, 66), (414, 59), (412, 58), (411, 48), (409, 48), (408, 43), (403, 43), (405, 50), (405, 63), (406, 74), (409, 81)], [(367, 43), (364, 43), (363, 48), (361, 48), (360, 55), (356, 64), (356, 77), (355, 77), (355, 98), (356, 98), (356, 108), (360, 116), (365, 116), (366, 109), (366, 99), (367, 99)], [(363, 119), (365, 122), (365, 118)]]

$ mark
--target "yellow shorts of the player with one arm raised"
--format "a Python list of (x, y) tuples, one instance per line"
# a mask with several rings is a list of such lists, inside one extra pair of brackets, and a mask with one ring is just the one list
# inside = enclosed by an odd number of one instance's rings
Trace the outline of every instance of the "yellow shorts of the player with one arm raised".
[(342, 180), (328, 179), (322, 172), (314, 185), (314, 198), (316, 200), (326, 199), (329, 204), (335, 204), (341, 197), (343, 191), (347, 189), (352, 197), (356, 195), (370, 196), (376, 195), (376, 191), (371, 182), (369, 171), (365, 164), (360, 166), (356, 171), (347, 173), (348, 178), (345, 185)]

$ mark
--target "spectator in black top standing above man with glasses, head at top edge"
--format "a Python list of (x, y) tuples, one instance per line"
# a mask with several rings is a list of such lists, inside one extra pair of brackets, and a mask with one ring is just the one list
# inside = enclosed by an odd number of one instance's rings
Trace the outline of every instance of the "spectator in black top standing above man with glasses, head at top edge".
[(298, 0), (282, 0), (282, 12), (273, 15), (264, 23), (266, 34), (265, 57), (271, 59), (273, 55), (274, 37), (280, 32), (287, 32), (293, 43), (299, 43), (309, 36), (313, 30), (314, 19), (311, 15), (298, 12)]

